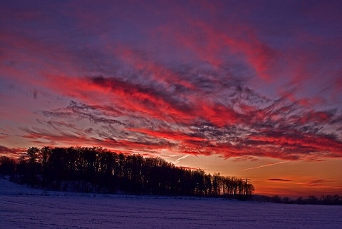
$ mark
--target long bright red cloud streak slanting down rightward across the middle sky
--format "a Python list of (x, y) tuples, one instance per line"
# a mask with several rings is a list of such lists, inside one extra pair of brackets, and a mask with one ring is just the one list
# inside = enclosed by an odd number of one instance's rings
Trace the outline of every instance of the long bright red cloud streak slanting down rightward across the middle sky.
[[(162, 95), (154, 88), (122, 81), (116, 78), (71, 78), (66, 76), (48, 76), (48, 86), (68, 96), (79, 98), (87, 103), (108, 101), (117, 104), (140, 116), (158, 118), (165, 121), (189, 123), (198, 117), (217, 126), (237, 123), (238, 114), (228, 106), (213, 103), (203, 98), (196, 101), (191, 96), (185, 98), (189, 104), (173, 100)], [(77, 87), (75, 87), (77, 85)], [(180, 97), (176, 98), (181, 99)], [(179, 105), (179, 106), (178, 106)]]

